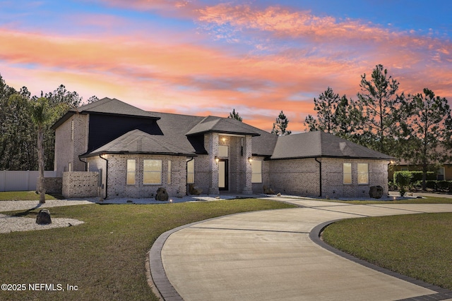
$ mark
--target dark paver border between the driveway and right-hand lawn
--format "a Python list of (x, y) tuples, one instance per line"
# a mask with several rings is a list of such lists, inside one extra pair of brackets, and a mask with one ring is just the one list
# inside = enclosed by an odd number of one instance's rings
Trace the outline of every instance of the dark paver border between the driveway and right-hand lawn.
[[(331, 225), (331, 223), (335, 223), (336, 221), (341, 221), (341, 220), (343, 220), (343, 219), (335, 219), (333, 221), (326, 221), (324, 223), (321, 223), (321, 224), (315, 226), (309, 233), (309, 239), (311, 239), (312, 242), (316, 243), (316, 245), (319, 245), (320, 247), (323, 247), (323, 249), (333, 252), (334, 254), (336, 254), (340, 257), (351, 260), (352, 262), (356, 262), (357, 264), (361, 264), (362, 266), (366, 266), (369, 269), (379, 271), (383, 274), (393, 276), (393, 277), (399, 278), (404, 281), (408, 281), (415, 285), (419, 285), (419, 286), (422, 286), (423, 288), (427, 288), (429, 290), (433, 290), (436, 292), (436, 294), (422, 296), (422, 300), (447, 300), (447, 299), (452, 298), (452, 290), (448, 290), (446, 288), (440, 288), (437, 285), (433, 285), (433, 284), (426, 283), (424, 281), (420, 281), (420, 280), (417, 280), (417, 279), (409, 277), (409, 276), (398, 274), (394, 271), (384, 269), (381, 266), (376, 266), (375, 264), (371, 264), (371, 263), (366, 262), (362, 259), (359, 259), (353, 255), (340, 251), (340, 250), (336, 249), (335, 247), (331, 247), (331, 245), (328, 245), (326, 242), (321, 240), (320, 235), (321, 235), (323, 229), (325, 229), (327, 226)], [(402, 300), (403, 301), (415, 301), (415, 300), (420, 300), (420, 299), (419, 299), (419, 297), (412, 297), (412, 298), (407, 298), (407, 299), (402, 299)], [(399, 300), (399, 301), (402, 301), (402, 300)]]

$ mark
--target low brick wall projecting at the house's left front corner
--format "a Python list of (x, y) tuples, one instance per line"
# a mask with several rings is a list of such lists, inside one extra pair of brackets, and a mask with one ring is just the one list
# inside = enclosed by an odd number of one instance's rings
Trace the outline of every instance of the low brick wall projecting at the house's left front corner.
[(63, 196), (97, 197), (98, 179), (97, 171), (66, 171), (63, 173)]

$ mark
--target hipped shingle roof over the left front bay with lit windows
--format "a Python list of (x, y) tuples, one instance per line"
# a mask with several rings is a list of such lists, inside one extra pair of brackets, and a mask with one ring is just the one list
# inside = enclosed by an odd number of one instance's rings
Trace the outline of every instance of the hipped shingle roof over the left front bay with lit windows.
[(95, 149), (82, 157), (95, 156), (97, 154), (172, 154), (180, 156), (192, 156), (192, 149), (184, 149), (180, 145), (173, 144), (162, 135), (150, 135), (141, 130), (131, 130), (121, 135), (112, 142)]

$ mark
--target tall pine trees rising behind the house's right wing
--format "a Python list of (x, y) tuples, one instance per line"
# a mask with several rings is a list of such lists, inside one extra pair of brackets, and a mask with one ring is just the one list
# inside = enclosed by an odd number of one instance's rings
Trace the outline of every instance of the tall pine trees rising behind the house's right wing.
[[(446, 98), (427, 87), (405, 94), (399, 93), (399, 85), (383, 65), (377, 65), (370, 76), (361, 75), (357, 99), (340, 97), (331, 87), (314, 98), (316, 114), (308, 115), (304, 125), (306, 130), (322, 130), (421, 166), (425, 189), (427, 171), (452, 159), (451, 108)], [(281, 111), (271, 133), (290, 134), (288, 123)]]

